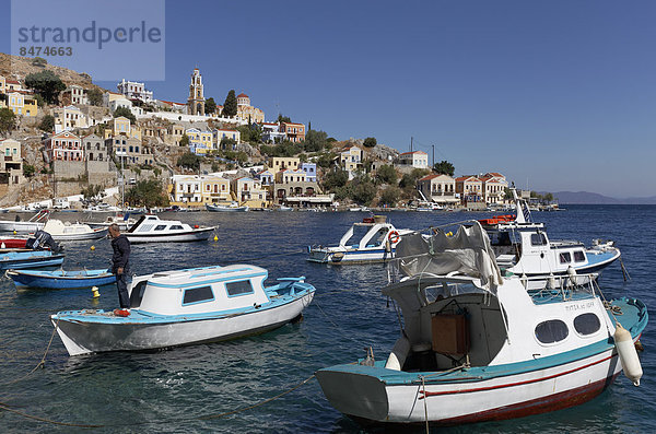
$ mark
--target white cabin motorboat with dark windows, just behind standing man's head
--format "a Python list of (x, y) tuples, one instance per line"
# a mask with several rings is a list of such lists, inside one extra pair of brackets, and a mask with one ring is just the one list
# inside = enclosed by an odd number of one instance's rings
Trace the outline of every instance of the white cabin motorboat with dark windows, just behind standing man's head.
[(142, 215), (125, 235), (130, 243), (200, 242), (208, 239), (214, 226), (191, 227), (178, 220), (160, 220), (156, 215)]

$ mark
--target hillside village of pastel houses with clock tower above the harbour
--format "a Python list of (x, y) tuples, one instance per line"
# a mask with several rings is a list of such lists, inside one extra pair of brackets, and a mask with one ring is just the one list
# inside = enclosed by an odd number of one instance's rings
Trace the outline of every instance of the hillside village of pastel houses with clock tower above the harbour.
[[(89, 201), (204, 207), (328, 208), (434, 203), (484, 209), (507, 200), (497, 172), (454, 177), (423, 151), (375, 138), (338, 141), (312, 125), (266, 116), (230, 91), (206, 97), (199, 69), (185, 103), (144, 83), (117, 92), (39, 58), (0, 54), (0, 207), (83, 193)], [(125, 186), (125, 196), (103, 197)]]

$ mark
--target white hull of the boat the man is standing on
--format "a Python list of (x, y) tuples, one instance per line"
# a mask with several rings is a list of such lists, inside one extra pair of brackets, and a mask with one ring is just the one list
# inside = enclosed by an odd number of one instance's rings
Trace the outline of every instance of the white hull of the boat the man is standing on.
[[(70, 355), (106, 351), (143, 351), (236, 339), (262, 333), (290, 322), (301, 315), (314, 296), (314, 291), (290, 303), (243, 314), (218, 315), (204, 318), (166, 318), (138, 312), (126, 318), (106, 314), (105, 318), (91, 315), (90, 320), (67, 318), (57, 314), (51, 321), (57, 327)], [(153, 320), (153, 317), (156, 317)]]

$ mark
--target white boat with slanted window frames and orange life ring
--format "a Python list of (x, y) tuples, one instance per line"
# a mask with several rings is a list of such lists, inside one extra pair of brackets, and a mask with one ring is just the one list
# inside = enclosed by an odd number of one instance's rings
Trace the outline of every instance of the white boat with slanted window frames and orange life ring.
[(321, 263), (384, 262), (395, 257), (401, 236), (410, 230), (397, 230), (385, 215), (365, 218), (354, 223), (337, 246), (314, 245), (308, 247), (307, 260)]

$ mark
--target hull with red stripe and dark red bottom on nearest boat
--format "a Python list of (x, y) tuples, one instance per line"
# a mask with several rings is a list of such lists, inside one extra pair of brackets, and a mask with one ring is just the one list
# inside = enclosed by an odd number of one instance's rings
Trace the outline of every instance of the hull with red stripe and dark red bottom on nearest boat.
[(420, 424), (427, 413), (431, 424), (455, 425), (577, 406), (599, 395), (621, 368), (617, 352), (608, 350), (550, 370), (489, 380), (434, 384), (429, 376), (425, 386), (387, 385), (375, 376), (330, 368), (317, 372), (317, 379), (330, 403), (359, 422)]

